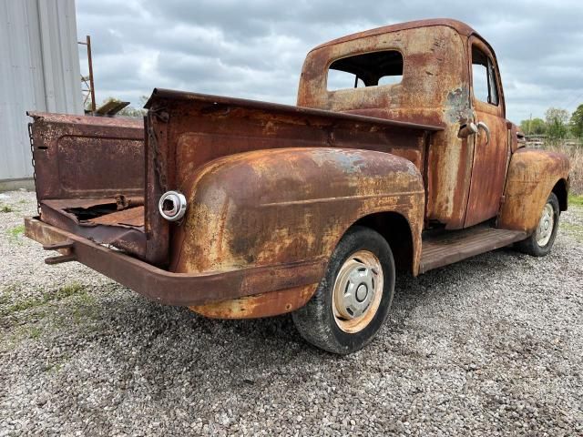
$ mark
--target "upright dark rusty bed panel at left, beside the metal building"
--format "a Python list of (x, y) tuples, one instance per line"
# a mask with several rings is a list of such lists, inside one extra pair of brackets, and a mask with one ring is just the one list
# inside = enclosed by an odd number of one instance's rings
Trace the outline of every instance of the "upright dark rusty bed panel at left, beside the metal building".
[(36, 196), (143, 196), (142, 120), (29, 112)]

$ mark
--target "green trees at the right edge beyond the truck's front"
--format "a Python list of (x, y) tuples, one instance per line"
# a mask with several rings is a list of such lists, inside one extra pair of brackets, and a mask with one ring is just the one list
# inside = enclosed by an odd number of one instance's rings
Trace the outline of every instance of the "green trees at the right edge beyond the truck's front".
[(583, 139), (583, 104), (573, 114), (566, 109), (549, 107), (545, 119), (531, 118), (520, 122), (520, 130), (525, 135), (545, 135), (550, 139)]

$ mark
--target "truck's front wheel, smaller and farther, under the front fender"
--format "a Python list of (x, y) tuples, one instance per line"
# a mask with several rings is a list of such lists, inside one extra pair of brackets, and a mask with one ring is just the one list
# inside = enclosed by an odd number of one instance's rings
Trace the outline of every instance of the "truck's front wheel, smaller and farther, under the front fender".
[(550, 193), (538, 221), (537, 230), (527, 239), (519, 241), (516, 244), (517, 249), (534, 257), (547, 255), (557, 237), (559, 215), (557, 196), (555, 193)]

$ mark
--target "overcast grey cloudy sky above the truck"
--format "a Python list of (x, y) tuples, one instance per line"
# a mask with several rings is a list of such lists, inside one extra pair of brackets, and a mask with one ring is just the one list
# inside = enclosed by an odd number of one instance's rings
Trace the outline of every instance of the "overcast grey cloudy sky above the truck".
[[(494, 46), (515, 122), (583, 103), (583, 1), (77, 0), (97, 102), (155, 86), (294, 104), (302, 62), (338, 36), (450, 17)], [(87, 59), (80, 50), (81, 68)]]

